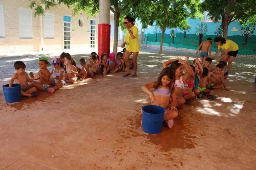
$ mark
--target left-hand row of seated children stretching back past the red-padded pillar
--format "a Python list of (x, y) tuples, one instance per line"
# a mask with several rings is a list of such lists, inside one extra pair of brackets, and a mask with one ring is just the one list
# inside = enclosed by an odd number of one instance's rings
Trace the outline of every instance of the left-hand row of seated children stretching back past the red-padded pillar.
[[(110, 53), (109, 59), (106, 53), (102, 53), (99, 61), (99, 56), (92, 52), (88, 58), (89, 63), (86, 63), (84, 58), (79, 60), (82, 68), (76, 66), (76, 61), (71, 57), (69, 53), (61, 53), (60, 57), (54, 57), (50, 63), (46, 57), (40, 57), (39, 72), (34, 75), (32, 72), (28, 74), (25, 72), (26, 65), (22, 61), (16, 61), (14, 68), (17, 73), (12, 76), (9, 82), (9, 87), (12, 87), (12, 83), (21, 84), (21, 96), (35, 97), (37, 96), (36, 90), (47, 90), (53, 93), (55, 90), (60, 89), (66, 83), (74, 83), (76, 81), (83, 81), (86, 77), (95, 76), (97, 73), (106, 75), (109, 72), (115, 73), (118, 71), (126, 71), (126, 66), (123, 61), (125, 48), (122, 52), (116, 54)], [(53, 66), (51, 72), (47, 69), (49, 66)], [(129, 67), (132, 67), (132, 59), (129, 59)], [(52, 74), (55, 77), (52, 77)], [(38, 80), (34, 81), (34, 80)], [(28, 82), (31, 82), (28, 84)], [(54, 87), (50, 87), (54, 85)]]

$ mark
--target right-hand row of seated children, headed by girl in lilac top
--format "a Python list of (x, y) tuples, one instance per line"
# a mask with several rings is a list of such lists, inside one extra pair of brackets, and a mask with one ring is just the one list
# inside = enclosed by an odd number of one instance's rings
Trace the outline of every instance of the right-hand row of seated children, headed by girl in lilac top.
[(178, 109), (184, 104), (205, 95), (209, 99), (216, 99), (217, 96), (213, 95), (212, 89), (224, 87), (228, 90), (223, 81), (225, 61), (219, 61), (219, 64), (212, 67), (212, 59), (209, 57), (205, 59), (204, 66), (198, 58), (194, 59), (192, 65), (189, 64), (188, 59), (189, 57), (186, 56), (185, 61), (178, 58), (164, 62), (164, 69), (157, 81), (142, 86), (142, 90), (150, 96), (153, 105), (165, 108), (164, 122), (169, 128), (172, 128), (173, 119), (178, 116)]

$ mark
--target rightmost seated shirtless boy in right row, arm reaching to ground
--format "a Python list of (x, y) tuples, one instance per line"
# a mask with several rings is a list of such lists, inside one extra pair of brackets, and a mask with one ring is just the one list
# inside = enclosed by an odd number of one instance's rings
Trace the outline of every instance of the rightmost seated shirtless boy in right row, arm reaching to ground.
[[(220, 72), (223, 70), (223, 66), (221, 64), (218, 64), (215, 68), (215, 72), (212, 72), (210, 73), (209, 75), (211, 76), (211, 80), (212, 80), (212, 83), (210, 86), (212, 86), (213, 89), (220, 89), (220, 88), (225, 88), (225, 90), (228, 90), (226, 88), (226, 85), (223, 81), (223, 77), (222, 75), (220, 74)], [(220, 79), (221, 83), (220, 84), (214, 84), (214, 83), (217, 83), (217, 81)]]

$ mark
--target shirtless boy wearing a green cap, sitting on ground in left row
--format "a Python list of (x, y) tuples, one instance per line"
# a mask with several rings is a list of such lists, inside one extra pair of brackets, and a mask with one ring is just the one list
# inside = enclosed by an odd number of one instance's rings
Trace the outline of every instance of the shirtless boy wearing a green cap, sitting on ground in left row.
[[(39, 72), (37, 75), (39, 75), (39, 81), (32, 82), (30, 86), (36, 87), (38, 90), (46, 90), (50, 88), (50, 72), (46, 67), (51, 66), (50, 62), (48, 62), (48, 59), (46, 57), (39, 58)], [(29, 74), (30, 77), (34, 77), (34, 74)], [(35, 80), (38, 80), (38, 78), (35, 78)]]

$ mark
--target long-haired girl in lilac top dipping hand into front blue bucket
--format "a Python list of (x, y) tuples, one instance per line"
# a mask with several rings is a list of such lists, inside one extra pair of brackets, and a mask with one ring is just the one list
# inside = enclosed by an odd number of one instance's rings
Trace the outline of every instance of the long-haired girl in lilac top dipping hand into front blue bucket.
[[(153, 105), (158, 105), (165, 108), (164, 122), (169, 128), (172, 128), (173, 119), (178, 116), (178, 110), (175, 109), (177, 102), (174, 89), (174, 80), (174, 70), (170, 67), (166, 67), (159, 74), (157, 81), (153, 81), (141, 87), (141, 89), (150, 96), (151, 103)], [(150, 90), (151, 88), (154, 89), (154, 92)], [(169, 109), (170, 97), (172, 98), (171, 110)]]

